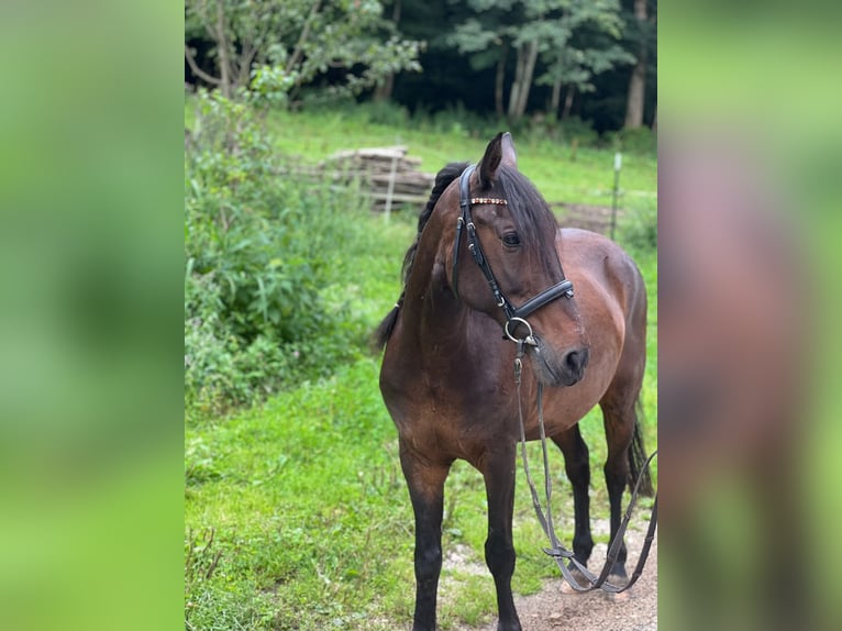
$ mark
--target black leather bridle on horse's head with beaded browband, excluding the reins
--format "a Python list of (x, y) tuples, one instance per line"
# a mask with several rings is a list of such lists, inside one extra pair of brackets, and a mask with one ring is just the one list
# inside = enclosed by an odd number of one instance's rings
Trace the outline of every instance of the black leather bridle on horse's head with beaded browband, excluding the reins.
[[(512, 302), (506, 297), (506, 294), (502, 292), (502, 289), (500, 289), (500, 286), (497, 283), (497, 278), (495, 278), (494, 272), (491, 272), (491, 267), (488, 265), (488, 259), (485, 257), (485, 254), (483, 253), (483, 246), (479, 244), (479, 239), (477, 237), (474, 219), (470, 215), (472, 204), (494, 203), (499, 206), (507, 206), (508, 201), (500, 198), (472, 198), (468, 180), (470, 179), (470, 174), (473, 174), (475, 169), (476, 167), (472, 165), (467, 167), (459, 177), (459, 208), (462, 209), (462, 214), (459, 215), (459, 219), (456, 223), (456, 242), (453, 244), (453, 294), (456, 296), (456, 298), (459, 297), (457, 264), (459, 261), (462, 231), (465, 229), (468, 251), (470, 251), (470, 254), (474, 257), (474, 262), (477, 264), (480, 272), (483, 272), (483, 276), (486, 277), (488, 286), (491, 288), (491, 294), (494, 294), (495, 300), (497, 300), (497, 306), (500, 307), (506, 313), (506, 324), (503, 325), (503, 332), (506, 333), (506, 336), (508, 336), (512, 342), (534, 344), (535, 341), (534, 337), (532, 337), (532, 326), (530, 326), (529, 322), (527, 322), (527, 318), (556, 298), (561, 298), (562, 296), (573, 298), (573, 283), (567, 279), (563, 279), (552, 287), (547, 287), (536, 296), (533, 296), (520, 307), (514, 307), (514, 305), (512, 305)], [(523, 340), (514, 337), (514, 335), (512, 335), (512, 331), (509, 331), (510, 325), (517, 328), (518, 324), (524, 324), (529, 331), (529, 334)]]

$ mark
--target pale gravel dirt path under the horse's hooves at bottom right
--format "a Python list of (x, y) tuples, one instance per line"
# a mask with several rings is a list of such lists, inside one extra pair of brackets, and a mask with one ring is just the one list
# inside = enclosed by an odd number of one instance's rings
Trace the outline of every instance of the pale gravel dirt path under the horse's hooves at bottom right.
[[(638, 520), (635, 520), (638, 521)], [(632, 530), (635, 528), (635, 530)], [(627, 569), (638, 563), (646, 525), (632, 523), (625, 536), (629, 549)], [(607, 529), (596, 523), (594, 532)], [(588, 567), (598, 572), (606, 558), (607, 545), (594, 547)], [(516, 596), (523, 631), (656, 631), (657, 630), (657, 536), (650, 551), (646, 567), (638, 583), (627, 593), (612, 596), (601, 591), (577, 594), (564, 579), (553, 579), (538, 594)], [(495, 631), (497, 620), (483, 627), (459, 627), (458, 631)]]

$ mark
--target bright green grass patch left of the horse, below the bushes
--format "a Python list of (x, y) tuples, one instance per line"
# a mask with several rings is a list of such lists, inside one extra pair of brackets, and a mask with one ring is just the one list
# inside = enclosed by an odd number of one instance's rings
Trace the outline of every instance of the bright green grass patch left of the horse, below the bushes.
[(243, 628), (325, 629), (406, 600), (409, 513), (376, 381), (376, 361), (359, 361), (225, 423), (188, 428), (186, 523), (204, 557), (186, 569), (197, 629), (232, 628), (217, 620), (221, 602)]

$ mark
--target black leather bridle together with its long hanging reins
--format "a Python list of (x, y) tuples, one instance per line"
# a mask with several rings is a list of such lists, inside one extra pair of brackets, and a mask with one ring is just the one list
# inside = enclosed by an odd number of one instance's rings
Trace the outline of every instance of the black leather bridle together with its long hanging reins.
[[(552, 510), (550, 506), (550, 501), (552, 498), (552, 481), (551, 481), (550, 475), (547, 475), (549, 463), (547, 463), (547, 451), (546, 451), (546, 435), (544, 431), (543, 384), (541, 384), (540, 381), (538, 384), (538, 421), (539, 421), (539, 430), (541, 435), (541, 449), (543, 453), (543, 464), (544, 464), (544, 494), (546, 498), (546, 512), (544, 512), (544, 510), (541, 508), (541, 500), (539, 499), (535, 485), (532, 481), (532, 475), (529, 468), (529, 461), (527, 458), (527, 435), (525, 435), (525, 429), (523, 423), (523, 406), (522, 406), (522, 398), (521, 398), (521, 373), (523, 368), (523, 356), (525, 355), (525, 346), (538, 345), (538, 342), (535, 341), (532, 334), (532, 326), (527, 321), (527, 318), (530, 314), (538, 311), (539, 309), (541, 309), (542, 307), (544, 307), (545, 305), (552, 302), (556, 298), (561, 298), (561, 297), (573, 298), (573, 283), (570, 283), (569, 280), (565, 278), (561, 280), (560, 283), (556, 283), (555, 285), (544, 289), (536, 296), (530, 298), (520, 307), (514, 307), (514, 305), (512, 305), (512, 302), (506, 297), (506, 294), (503, 294), (502, 289), (500, 289), (500, 286), (497, 283), (497, 278), (495, 277), (494, 272), (491, 270), (491, 267), (488, 264), (488, 259), (486, 258), (483, 252), (483, 246), (480, 245), (479, 239), (477, 237), (476, 226), (474, 225), (474, 220), (470, 214), (472, 204), (489, 204), (490, 203), (490, 204), (498, 204), (498, 206), (507, 206), (508, 201), (506, 199), (500, 199), (500, 198), (472, 198), (469, 179), (470, 179), (470, 175), (474, 173), (475, 169), (476, 167), (474, 165), (470, 165), (462, 173), (462, 176), (459, 177), (461, 213), (456, 223), (456, 240), (453, 245), (453, 268), (452, 268), (453, 294), (458, 299), (457, 265), (459, 259), (459, 245), (462, 243), (462, 233), (463, 231), (465, 231), (468, 251), (470, 252), (474, 258), (474, 262), (483, 272), (483, 276), (485, 276), (486, 281), (488, 283), (488, 286), (491, 289), (491, 294), (494, 295), (495, 300), (497, 301), (497, 306), (503, 310), (503, 313), (506, 313), (506, 324), (503, 325), (503, 332), (506, 333), (506, 336), (509, 340), (511, 340), (518, 345), (518, 351), (514, 358), (514, 380), (518, 387), (518, 420), (520, 422), (521, 457), (523, 460), (523, 471), (527, 476), (530, 494), (532, 495), (532, 505), (535, 509), (535, 514), (538, 517), (539, 522), (541, 523), (541, 528), (543, 529), (544, 534), (546, 534), (546, 536), (550, 539), (550, 547), (544, 547), (543, 551), (550, 556), (552, 556), (553, 558), (555, 558), (556, 564), (558, 565), (558, 568), (562, 571), (562, 576), (564, 576), (567, 583), (570, 584), (570, 587), (573, 587), (576, 591), (590, 591), (592, 589), (602, 589), (603, 591), (620, 594), (621, 591), (625, 591), (627, 589), (629, 589), (632, 585), (634, 585), (638, 582), (638, 578), (640, 578), (641, 574), (643, 573), (643, 567), (646, 563), (646, 558), (649, 557), (649, 552), (650, 552), (650, 549), (652, 547), (652, 542), (655, 539), (655, 528), (657, 527), (657, 495), (655, 496), (655, 500), (652, 507), (652, 517), (650, 518), (649, 529), (646, 531), (646, 536), (644, 539), (643, 549), (641, 550), (638, 564), (634, 567), (634, 572), (632, 573), (631, 578), (623, 586), (618, 586), (608, 582), (608, 576), (611, 573), (611, 568), (613, 567), (614, 563), (617, 562), (620, 555), (620, 549), (622, 547), (623, 536), (629, 525), (629, 521), (631, 520), (632, 510), (634, 509), (634, 506), (638, 502), (638, 492), (640, 490), (640, 485), (643, 479), (643, 474), (649, 468), (650, 463), (652, 462), (652, 458), (654, 458), (655, 455), (657, 455), (657, 451), (653, 452), (652, 455), (649, 456), (644, 465), (641, 467), (640, 475), (638, 476), (638, 479), (634, 484), (634, 489), (633, 489), (631, 499), (629, 501), (629, 507), (625, 510), (625, 516), (623, 517), (622, 523), (620, 524), (620, 528), (617, 531), (617, 534), (613, 541), (609, 545), (608, 555), (606, 557), (606, 562), (605, 562), (605, 565), (602, 566), (602, 569), (600, 571), (599, 575), (595, 575), (590, 573), (585, 565), (583, 565), (576, 560), (576, 557), (574, 556), (574, 552), (566, 550), (561, 544), (561, 542), (558, 541), (558, 538), (555, 534), (555, 529), (553, 527)], [(517, 328), (518, 324), (525, 325), (528, 330), (528, 334), (524, 337), (516, 337), (512, 334), (512, 331), (509, 330), (509, 326), (512, 325), (512, 323), (514, 328)], [(567, 561), (576, 569), (578, 569), (581, 573), (581, 575), (586, 578), (588, 585), (579, 584), (579, 582), (573, 575), (570, 568), (567, 566), (567, 563), (566, 563)]]

